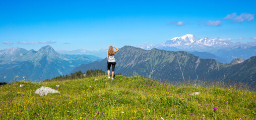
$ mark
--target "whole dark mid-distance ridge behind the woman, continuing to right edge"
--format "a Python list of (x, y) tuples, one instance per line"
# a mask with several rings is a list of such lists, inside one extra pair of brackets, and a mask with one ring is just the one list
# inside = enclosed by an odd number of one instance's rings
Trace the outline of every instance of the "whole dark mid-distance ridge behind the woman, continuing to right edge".
[[(185, 79), (235, 79), (255, 84), (256, 56), (247, 60), (234, 59), (229, 64), (217, 62), (215, 59), (203, 59), (186, 51), (168, 51), (152, 48), (145, 50), (133, 46), (124, 46), (115, 53), (115, 73), (132, 76), (134, 73), (149, 76), (158, 80)], [(72, 72), (89, 69), (106, 71), (106, 58), (88, 64), (81, 64)]]

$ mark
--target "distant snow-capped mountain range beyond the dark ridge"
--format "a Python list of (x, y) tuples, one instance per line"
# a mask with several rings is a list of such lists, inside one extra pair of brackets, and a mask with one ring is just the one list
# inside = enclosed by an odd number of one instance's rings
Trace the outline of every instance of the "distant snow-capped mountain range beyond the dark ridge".
[[(199, 51), (208, 52), (216, 55), (218, 62), (229, 63), (235, 58), (248, 59), (251, 56), (256, 55), (256, 42), (233, 43), (221, 38), (197, 38), (193, 34), (185, 34), (180, 37), (174, 37), (163, 43), (151, 44), (145, 43), (139, 46), (140, 48), (149, 50), (152, 48), (169, 50), (169, 51)], [(198, 54), (202, 58), (217, 58), (205, 56), (204, 54)]]

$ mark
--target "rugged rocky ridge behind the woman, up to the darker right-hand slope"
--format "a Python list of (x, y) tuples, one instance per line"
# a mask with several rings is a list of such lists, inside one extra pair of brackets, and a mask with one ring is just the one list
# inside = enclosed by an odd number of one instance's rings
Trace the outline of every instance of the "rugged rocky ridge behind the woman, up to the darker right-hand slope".
[[(132, 46), (122, 47), (115, 57), (117, 59), (116, 73), (131, 76), (136, 72), (159, 80), (207, 78), (206, 74), (225, 66), (214, 59), (202, 59), (185, 51), (174, 52), (156, 48), (144, 50)], [(101, 61), (82, 64), (72, 72), (95, 68), (106, 70), (106, 65), (105, 58)]]

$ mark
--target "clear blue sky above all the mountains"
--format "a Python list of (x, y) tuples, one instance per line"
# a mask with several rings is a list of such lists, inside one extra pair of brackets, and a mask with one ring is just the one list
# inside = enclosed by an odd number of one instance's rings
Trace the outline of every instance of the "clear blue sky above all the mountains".
[(0, 0), (0, 49), (141, 45), (176, 36), (256, 41), (256, 0)]

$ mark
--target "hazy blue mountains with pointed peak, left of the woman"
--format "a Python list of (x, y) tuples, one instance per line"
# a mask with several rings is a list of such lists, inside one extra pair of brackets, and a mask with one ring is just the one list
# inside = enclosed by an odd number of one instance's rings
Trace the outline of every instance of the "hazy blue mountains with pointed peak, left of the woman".
[[(13, 47), (0, 50), (0, 82), (10, 82), (14, 76), (23, 76), (31, 81), (42, 81), (57, 75), (68, 74), (82, 63), (102, 58), (93, 55), (59, 54), (51, 46), (34, 49)], [(16, 79), (16, 78), (15, 78)]]

